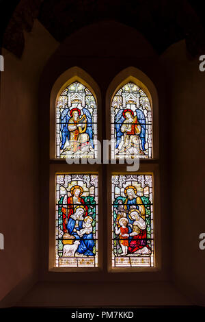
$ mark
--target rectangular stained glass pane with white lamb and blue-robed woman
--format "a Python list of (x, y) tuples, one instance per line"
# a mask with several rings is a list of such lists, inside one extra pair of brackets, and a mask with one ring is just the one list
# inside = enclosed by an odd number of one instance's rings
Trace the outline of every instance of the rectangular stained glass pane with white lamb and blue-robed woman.
[(55, 267), (98, 267), (98, 175), (56, 175)]

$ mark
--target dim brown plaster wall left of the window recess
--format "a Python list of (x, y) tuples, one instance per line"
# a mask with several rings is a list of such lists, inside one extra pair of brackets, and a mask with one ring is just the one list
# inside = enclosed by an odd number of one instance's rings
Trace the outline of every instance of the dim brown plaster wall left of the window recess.
[(42, 67), (56, 47), (35, 21), (32, 32), (25, 34), (20, 60), (3, 50), (0, 232), (5, 249), (0, 251), (0, 301), (15, 287), (31, 286), (38, 274), (38, 86)]

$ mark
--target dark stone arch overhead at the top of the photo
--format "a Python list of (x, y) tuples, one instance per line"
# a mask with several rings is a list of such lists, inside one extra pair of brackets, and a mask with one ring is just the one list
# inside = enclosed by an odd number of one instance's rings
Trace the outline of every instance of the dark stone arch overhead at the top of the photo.
[[(14, 1), (15, 2), (15, 1)], [(190, 56), (205, 53), (205, 1), (193, 0), (21, 0), (10, 5), (10, 21), (3, 47), (20, 57), (23, 29), (31, 31), (33, 19), (59, 42), (77, 29), (98, 21), (114, 20), (137, 29), (161, 54), (185, 39)], [(204, 4), (203, 4), (204, 3)], [(13, 14), (12, 14), (13, 12)]]

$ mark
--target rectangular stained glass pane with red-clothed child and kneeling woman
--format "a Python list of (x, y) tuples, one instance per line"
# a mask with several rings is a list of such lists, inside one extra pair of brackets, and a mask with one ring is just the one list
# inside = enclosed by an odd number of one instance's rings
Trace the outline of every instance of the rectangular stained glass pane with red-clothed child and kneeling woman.
[(153, 267), (152, 175), (112, 175), (112, 267)]

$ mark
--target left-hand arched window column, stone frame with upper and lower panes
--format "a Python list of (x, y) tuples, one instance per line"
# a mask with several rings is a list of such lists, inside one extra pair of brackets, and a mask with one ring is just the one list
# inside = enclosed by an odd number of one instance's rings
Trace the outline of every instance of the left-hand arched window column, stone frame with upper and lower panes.
[(98, 101), (98, 86), (77, 67), (61, 75), (51, 90), (50, 270), (99, 266), (101, 174), (96, 164), (79, 161), (97, 158)]

